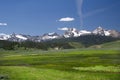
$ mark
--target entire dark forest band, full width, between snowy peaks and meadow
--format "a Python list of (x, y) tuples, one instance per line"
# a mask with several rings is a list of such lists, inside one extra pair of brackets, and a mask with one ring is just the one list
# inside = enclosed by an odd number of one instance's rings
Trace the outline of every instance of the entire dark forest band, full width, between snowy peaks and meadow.
[[(5, 50), (16, 50), (16, 49), (71, 49), (77, 48), (77, 46), (89, 47), (92, 45), (98, 45), (106, 42), (111, 42), (119, 40), (119, 38), (106, 37), (100, 35), (85, 35), (74, 38), (62, 38), (62, 39), (54, 39), (49, 41), (42, 42), (33, 42), (33, 41), (23, 41), (23, 42), (11, 42), (0, 40), (0, 48)], [(74, 43), (75, 44), (71, 44)], [(80, 48), (79, 47), (79, 48)]]

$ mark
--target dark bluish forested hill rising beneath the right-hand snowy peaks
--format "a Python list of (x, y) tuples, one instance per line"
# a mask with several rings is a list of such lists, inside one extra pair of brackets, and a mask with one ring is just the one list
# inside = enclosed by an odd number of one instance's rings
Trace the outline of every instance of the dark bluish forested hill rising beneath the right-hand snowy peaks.
[(83, 35), (79, 37), (55, 39), (55, 40), (47, 41), (44, 43), (45, 44), (49, 43), (49, 45), (54, 45), (54, 47), (57, 47), (57, 46), (62, 47), (60, 46), (60, 44), (67, 44), (68, 48), (69, 47), (85, 48), (93, 45), (100, 45), (106, 42), (116, 41), (116, 40), (119, 40), (119, 38), (114, 38), (111, 36), (101, 36), (101, 35)]

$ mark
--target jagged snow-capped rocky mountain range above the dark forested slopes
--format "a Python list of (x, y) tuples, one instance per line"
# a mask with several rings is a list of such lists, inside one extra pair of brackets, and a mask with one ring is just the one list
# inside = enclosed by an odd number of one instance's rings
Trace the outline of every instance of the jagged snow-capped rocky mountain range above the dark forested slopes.
[(100, 36), (111, 36), (115, 38), (120, 38), (120, 32), (116, 30), (105, 30), (102, 27), (97, 27), (93, 31), (88, 30), (77, 30), (76, 28), (59, 28), (59, 30), (65, 31), (64, 34), (45, 33), (41, 36), (31, 36), (24, 34), (4, 34), (0, 33), (0, 40), (23, 42), (23, 41), (33, 41), (33, 42), (42, 42), (53, 39), (62, 39), (62, 38), (73, 38), (80, 37), (83, 35), (100, 35)]

